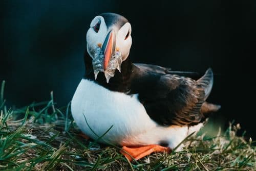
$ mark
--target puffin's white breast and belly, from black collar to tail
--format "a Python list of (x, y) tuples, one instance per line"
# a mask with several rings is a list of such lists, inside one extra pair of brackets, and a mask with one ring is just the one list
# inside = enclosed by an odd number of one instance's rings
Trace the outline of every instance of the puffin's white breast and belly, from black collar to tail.
[[(102, 136), (113, 126), (101, 142), (127, 146), (165, 142), (174, 148), (190, 133), (187, 127), (163, 127), (156, 124), (147, 115), (137, 94), (131, 96), (113, 92), (85, 79), (81, 80), (76, 89), (71, 111), (77, 126), (93, 139)], [(198, 131), (201, 127), (202, 124), (199, 124), (193, 129)]]

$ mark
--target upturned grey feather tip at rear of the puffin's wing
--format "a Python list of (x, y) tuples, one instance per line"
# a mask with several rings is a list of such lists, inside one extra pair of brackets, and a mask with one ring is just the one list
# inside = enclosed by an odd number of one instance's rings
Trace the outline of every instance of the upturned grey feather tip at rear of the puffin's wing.
[(210, 95), (212, 85), (214, 84), (214, 73), (212, 72), (211, 68), (207, 69), (204, 76), (197, 80), (197, 84), (204, 89), (204, 93), (205, 93), (204, 101), (205, 101), (207, 97)]

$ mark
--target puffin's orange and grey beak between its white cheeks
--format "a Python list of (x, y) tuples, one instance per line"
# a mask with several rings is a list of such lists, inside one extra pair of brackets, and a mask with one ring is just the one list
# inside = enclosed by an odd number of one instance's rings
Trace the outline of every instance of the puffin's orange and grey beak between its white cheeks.
[(111, 56), (115, 53), (116, 48), (116, 33), (114, 30), (111, 30), (104, 40), (104, 43), (101, 47), (102, 52), (104, 52), (104, 70), (109, 65), (109, 61), (111, 59)]

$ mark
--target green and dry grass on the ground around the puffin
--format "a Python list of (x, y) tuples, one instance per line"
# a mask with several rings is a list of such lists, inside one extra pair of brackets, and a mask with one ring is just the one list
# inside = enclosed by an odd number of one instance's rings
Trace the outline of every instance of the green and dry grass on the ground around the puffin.
[[(20, 117), (22, 118), (20, 119)], [(129, 162), (119, 147), (79, 136), (70, 105), (49, 102), (8, 109), (0, 94), (0, 170), (256, 170), (255, 141), (236, 136), (232, 126), (215, 137), (185, 139), (186, 148)]]

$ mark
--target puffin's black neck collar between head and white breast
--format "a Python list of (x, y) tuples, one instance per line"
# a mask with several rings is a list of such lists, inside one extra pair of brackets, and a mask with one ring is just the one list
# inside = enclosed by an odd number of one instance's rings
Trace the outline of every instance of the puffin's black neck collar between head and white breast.
[(134, 65), (129, 58), (122, 62), (121, 72), (119, 72), (117, 69), (115, 70), (115, 76), (110, 79), (109, 83), (106, 83), (106, 79), (103, 72), (99, 72), (97, 80), (95, 80), (92, 58), (87, 52), (86, 54), (84, 54), (84, 64), (86, 66), (86, 74), (84, 75), (84, 79), (94, 81), (97, 84), (105, 88), (108, 88), (112, 91), (119, 91), (125, 93), (130, 92), (131, 79), (133, 77), (134, 72)]

